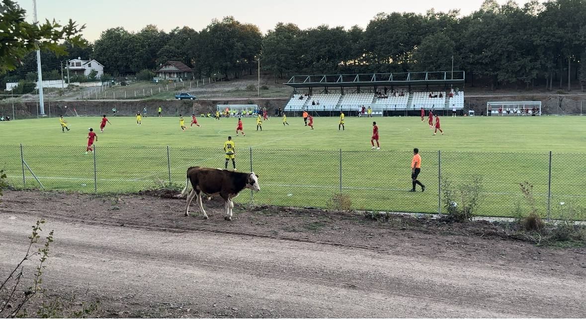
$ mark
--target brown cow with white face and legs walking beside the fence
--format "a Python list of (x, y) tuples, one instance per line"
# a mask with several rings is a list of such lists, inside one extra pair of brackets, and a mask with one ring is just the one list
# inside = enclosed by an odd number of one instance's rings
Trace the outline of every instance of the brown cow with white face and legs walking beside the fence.
[(185, 215), (189, 216), (189, 204), (193, 197), (197, 196), (197, 204), (199, 204), (199, 208), (202, 210), (203, 218), (205, 219), (207, 219), (207, 214), (203, 209), (202, 193), (208, 196), (220, 195), (226, 202), (224, 219), (231, 220), (232, 208), (234, 208), (232, 199), (236, 198), (240, 191), (244, 189), (260, 191), (258, 176), (254, 172), (243, 173), (214, 168), (189, 167), (185, 188), (178, 197), (188, 194), (189, 181), (191, 181), (193, 190), (187, 197)]

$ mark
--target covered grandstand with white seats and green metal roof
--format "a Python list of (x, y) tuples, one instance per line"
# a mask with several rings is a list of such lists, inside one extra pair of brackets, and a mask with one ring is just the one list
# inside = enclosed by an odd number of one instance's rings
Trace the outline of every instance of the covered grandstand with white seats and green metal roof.
[(356, 115), (360, 106), (370, 106), (374, 115), (415, 115), (421, 107), (444, 113), (464, 109), (464, 92), (453, 89), (464, 85), (464, 71), (454, 71), (454, 77), (446, 71), (294, 75), (285, 85), (293, 87), (294, 94), (284, 111), (294, 114), (307, 110)]

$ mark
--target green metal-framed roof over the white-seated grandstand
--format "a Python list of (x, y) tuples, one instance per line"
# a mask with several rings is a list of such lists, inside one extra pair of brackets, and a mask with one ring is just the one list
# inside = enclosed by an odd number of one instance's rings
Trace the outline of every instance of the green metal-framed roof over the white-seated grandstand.
[(284, 84), (294, 88), (428, 87), (463, 85), (464, 71), (294, 75)]

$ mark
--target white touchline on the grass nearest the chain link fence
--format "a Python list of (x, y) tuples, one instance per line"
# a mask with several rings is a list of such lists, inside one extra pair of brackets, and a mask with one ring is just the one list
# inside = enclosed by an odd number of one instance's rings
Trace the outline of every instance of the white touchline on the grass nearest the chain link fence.
[[(8, 176), (9, 178), (22, 178), (22, 176)], [(54, 180), (75, 180), (75, 181), (93, 181), (93, 178), (65, 178), (65, 177), (38, 177), (39, 179), (54, 179)], [(136, 179), (98, 179), (98, 181), (115, 181), (115, 182), (149, 182), (150, 180), (136, 180)], [(153, 182), (153, 181), (150, 181)], [(290, 187), (290, 188), (316, 188), (316, 189), (336, 189), (336, 185), (310, 185), (310, 184), (262, 184), (263, 187)], [(342, 187), (342, 190), (374, 190), (374, 191), (407, 191), (408, 189), (400, 188), (369, 188), (369, 187)], [(431, 193), (432, 191), (430, 190)], [(435, 193), (435, 192), (434, 192)], [(507, 192), (482, 192), (488, 195), (519, 195)], [(536, 194), (546, 197), (547, 194)], [(552, 194), (552, 197), (570, 197), (570, 198), (586, 198), (584, 195), (564, 195)]]

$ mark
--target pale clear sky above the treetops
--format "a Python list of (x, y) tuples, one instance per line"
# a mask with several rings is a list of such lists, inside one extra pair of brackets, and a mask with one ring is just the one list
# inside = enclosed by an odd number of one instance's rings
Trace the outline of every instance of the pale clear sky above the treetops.
[[(528, 0), (517, 0), (523, 5)], [(33, 1), (16, 0), (33, 20)], [(506, 0), (498, 0), (504, 4)], [(176, 26), (189, 26), (199, 31), (209, 25), (213, 18), (234, 16), (236, 20), (254, 23), (265, 33), (277, 22), (292, 22), (301, 29), (322, 24), (329, 26), (353, 25), (366, 27), (370, 19), (379, 12), (417, 12), (427, 9), (449, 11), (460, 9), (467, 15), (480, 8), (482, 0), (255, 0), (255, 1), (202, 1), (202, 0), (37, 0), (39, 20), (69, 19), (85, 24), (83, 35), (93, 42), (100, 33), (110, 27), (122, 26), (128, 31), (139, 31), (154, 24), (169, 32)]]

